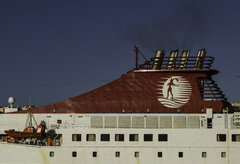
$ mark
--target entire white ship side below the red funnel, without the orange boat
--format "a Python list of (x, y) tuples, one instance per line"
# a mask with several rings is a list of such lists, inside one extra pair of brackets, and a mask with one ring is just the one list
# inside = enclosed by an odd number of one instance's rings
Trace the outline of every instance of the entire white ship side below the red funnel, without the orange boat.
[[(34, 116), (56, 134), (52, 146), (1, 142), (0, 163), (238, 164), (240, 158), (239, 113)], [(23, 130), (26, 119), (0, 115), (1, 134)]]

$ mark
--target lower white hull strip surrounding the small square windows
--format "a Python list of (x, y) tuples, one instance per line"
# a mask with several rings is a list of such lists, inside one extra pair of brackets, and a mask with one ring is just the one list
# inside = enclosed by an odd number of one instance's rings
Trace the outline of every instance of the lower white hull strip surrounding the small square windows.
[[(13, 144), (1, 144), (0, 146), (1, 163), (6, 164), (238, 164), (240, 150), (240, 148), (229, 149), (229, 153), (231, 155), (226, 158), (221, 158), (221, 152), (227, 151), (227, 148), (43, 148)], [(136, 150), (140, 152), (140, 156), (138, 158), (134, 157), (134, 152)], [(50, 151), (55, 152), (55, 157), (49, 157)], [(76, 151), (78, 156), (72, 157), (72, 151)], [(98, 157), (92, 157), (93, 151), (98, 152)], [(120, 151), (121, 157), (115, 157), (115, 151)], [(157, 157), (158, 151), (163, 152), (162, 158)], [(178, 157), (179, 151), (184, 152), (183, 158)], [(202, 158), (201, 154), (203, 151), (208, 152), (207, 158)]]

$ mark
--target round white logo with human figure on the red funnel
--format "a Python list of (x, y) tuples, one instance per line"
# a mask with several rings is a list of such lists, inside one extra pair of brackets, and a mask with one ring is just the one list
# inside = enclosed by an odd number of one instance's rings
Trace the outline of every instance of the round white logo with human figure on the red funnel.
[(158, 101), (168, 108), (179, 108), (186, 104), (192, 94), (190, 82), (182, 76), (171, 76), (160, 81)]

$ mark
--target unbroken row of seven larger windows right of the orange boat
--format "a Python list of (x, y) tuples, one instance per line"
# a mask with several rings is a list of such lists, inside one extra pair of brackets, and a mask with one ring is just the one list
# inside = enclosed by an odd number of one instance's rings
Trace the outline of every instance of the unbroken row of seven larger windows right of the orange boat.
[[(110, 134), (101, 134), (100, 136), (101, 141), (110, 141)], [(144, 134), (143, 135), (144, 141), (153, 141), (153, 134)], [(81, 141), (82, 135), (81, 134), (72, 134), (72, 141)], [(138, 134), (129, 134), (129, 141), (138, 141), (139, 135)], [(96, 134), (86, 134), (86, 141), (96, 141)], [(115, 141), (124, 141), (124, 134), (115, 134)], [(168, 141), (167, 134), (158, 134), (158, 141), (166, 142)]]

